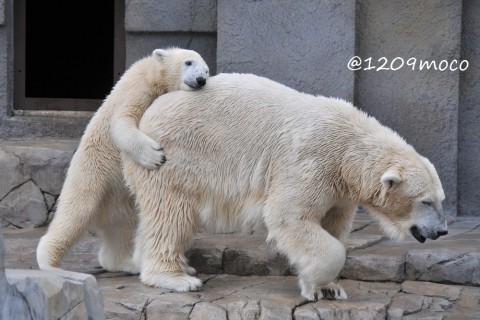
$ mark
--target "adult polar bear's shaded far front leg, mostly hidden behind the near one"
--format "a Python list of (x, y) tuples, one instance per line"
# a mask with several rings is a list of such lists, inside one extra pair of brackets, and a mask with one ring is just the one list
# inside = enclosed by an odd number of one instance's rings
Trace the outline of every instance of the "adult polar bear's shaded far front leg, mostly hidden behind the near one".
[(320, 225), (332, 236), (345, 243), (352, 230), (356, 210), (357, 206), (353, 204), (335, 206), (327, 211)]

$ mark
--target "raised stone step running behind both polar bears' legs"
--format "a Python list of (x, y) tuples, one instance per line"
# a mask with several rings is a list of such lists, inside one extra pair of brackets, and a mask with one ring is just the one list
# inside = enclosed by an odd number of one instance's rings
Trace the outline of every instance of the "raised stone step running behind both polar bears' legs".
[[(36, 269), (35, 249), (44, 228), (4, 229), (7, 268)], [(253, 234), (199, 233), (187, 256), (205, 274), (288, 276), (295, 274), (284, 256), (265, 242), (266, 231)], [(364, 281), (431, 281), (480, 285), (480, 218), (450, 224), (449, 234), (420, 244), (413, 238), (387, 240), (368, 215), (357, 215), (347, 241), (347, 260), (340, 276)], [(85, 235), (63, 261), (63, 268), (99, 273), (98, 239)]]

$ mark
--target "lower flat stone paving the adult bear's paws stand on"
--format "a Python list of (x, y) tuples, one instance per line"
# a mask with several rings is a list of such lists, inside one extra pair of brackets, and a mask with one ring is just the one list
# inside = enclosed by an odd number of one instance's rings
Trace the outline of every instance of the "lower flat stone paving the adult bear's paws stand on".
[(97, 281), (107, 319), (478, 319), (480, 288), (405, 281), (340, 280), (346, 301), (303, 299), (292, 276), (200, 275), (198, 292), (143, 286), (136, 277)]

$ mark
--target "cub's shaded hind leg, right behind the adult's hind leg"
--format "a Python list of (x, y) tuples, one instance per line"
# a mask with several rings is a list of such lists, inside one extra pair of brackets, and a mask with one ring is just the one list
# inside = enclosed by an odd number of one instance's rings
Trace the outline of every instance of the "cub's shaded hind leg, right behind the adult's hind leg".
[(102, 211), (106, 214), (97, 222), (102, 241), (98, 253), (100, 265), (111, 272), (139, 273), (131, 258), (137, 226), (132, 197), (124, 190), (105, 202)]

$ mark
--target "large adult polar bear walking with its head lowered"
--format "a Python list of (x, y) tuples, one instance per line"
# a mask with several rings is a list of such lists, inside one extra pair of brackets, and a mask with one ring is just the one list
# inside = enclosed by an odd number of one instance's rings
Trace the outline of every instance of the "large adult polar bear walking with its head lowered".
[(201, 287), (184, 256), (200, 224), (263, 221), (308, 300), (346, 298), (333, 281), (359, 204), (393, 238), (447, 233), (433, 165), (343, 100), (221, 74), (201, 91), (159, 97), (139, 128), (169, 159), (158, 170), (124, 161), (140, 210), (133, 260), (147, 285)]

